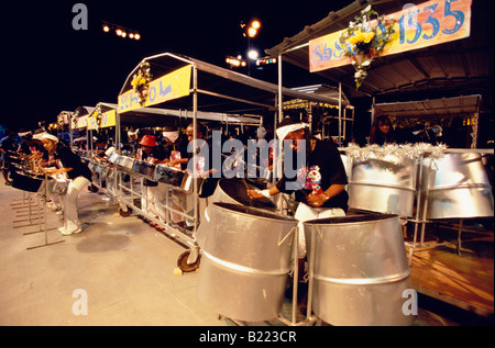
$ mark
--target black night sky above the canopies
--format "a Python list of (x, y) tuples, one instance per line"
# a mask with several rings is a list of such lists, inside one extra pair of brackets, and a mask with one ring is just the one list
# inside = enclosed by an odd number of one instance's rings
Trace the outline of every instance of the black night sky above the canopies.
[[(72, 26), (77, 2), (87, 5), (87, 31)], [(252, 45), (263, 52), (350, 2), (47, 0), (2, 4), (0, 124), (34, 127), (41, 120), (54, 122), (63, 110), (117, 102), (130, 71), (154, 54), (177, 53), (226, 67), (227, 55), (246, 49), (241, 21), (257, 18), (262, 22)], [(135, 29), (142, 40), (103, 33), (101, 21)], [(275, 82), (276, 67), (252, 76)], [(287, 87), (307, 85), (290, 76), (284, 76), (284, 81)]]

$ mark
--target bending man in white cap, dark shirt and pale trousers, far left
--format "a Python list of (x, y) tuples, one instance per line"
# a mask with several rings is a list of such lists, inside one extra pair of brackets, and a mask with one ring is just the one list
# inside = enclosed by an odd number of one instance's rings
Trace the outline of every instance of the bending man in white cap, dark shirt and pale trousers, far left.
[(77, 212), (77, 200), (80, 191), (91, 181), (91, 171), (70, 147), (50, 133), (42, 136), (43, 146), (53, 154), (61, 168), (46, 168), (48, 175), (66, 173), (69, 179), (64, 200), (64, 226), (58, 228), (63, 235), (72, 235), (82, 231)]

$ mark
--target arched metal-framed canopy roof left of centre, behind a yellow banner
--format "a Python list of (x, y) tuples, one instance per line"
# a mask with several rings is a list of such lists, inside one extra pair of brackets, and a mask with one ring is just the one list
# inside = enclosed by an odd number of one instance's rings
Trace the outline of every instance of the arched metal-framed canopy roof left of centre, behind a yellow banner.
[[(229, 113), (238, 116), (245, 114), (273, 116), (276, 108), (276, 97), (278, 86), (266, 81), (257, 80), (252, 77), (217, 67), (215, 65), (177, 55), (164, 53), (146, 57), (143, 61), (150, 64), (153, 78), (160, 78), (172, 71), (175, 71), (186, 65), (191, 65), (198, 71), (198, 110), (204, 112)], [(128, 76), (119, 94), (131, 90), (131, 81), (136, 74), (138, 65)], [(191, 77), (194, 79), (194, 76)], [(193, 88), (193, 83), (190, 85)], [(338, 98), (324, 96), (308, 94), (297, 90), (282, 88), (284, 101), (290, 99), (305, 99), (309, 101), (322, 102), (338, 105)], [(343, 103), (344, 104), (344, 103)], [(161, 104), (162, 105), (162, 104)], [(163, 103), (170, 110), (193, 110), (193, 97), (183, 97)], [(154, 109), (154, 108), (145, 108)], [(206, 114), (204, 114), (206, 116)], [(198, 114), (199, 117), (199, 114)]]

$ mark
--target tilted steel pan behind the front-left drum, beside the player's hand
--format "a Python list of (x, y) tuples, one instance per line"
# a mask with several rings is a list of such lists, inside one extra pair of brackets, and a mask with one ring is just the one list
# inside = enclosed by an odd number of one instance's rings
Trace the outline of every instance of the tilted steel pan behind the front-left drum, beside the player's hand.
[[(256, 189), (248, 182), (251, 190)], [(268, 199), (253, 200), (248, 195), (248, 189), (241, 179), (221, 179), (215, 189), (211, 202), (224, 202), (232, 204), (242, 204), (248, 206), (275, 210), (275, 203)]]

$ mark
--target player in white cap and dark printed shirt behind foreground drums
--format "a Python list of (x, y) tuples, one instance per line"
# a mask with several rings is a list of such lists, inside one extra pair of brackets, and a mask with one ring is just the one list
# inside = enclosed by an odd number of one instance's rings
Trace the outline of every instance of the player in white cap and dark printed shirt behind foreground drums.
[[(348, 178), (339, 150), (333, 142), (314, 138), (308, 126), (289, 116), (280, 122), (276, 133), (278, 139), (284, 141), (285, 164), (282, 179), (270, 189), (248, 191), (252, 199), (295, 192), (295, 199), (299, 202), (295, 213), (300, 228), (299, 260), (304, 260), (306, 256), (302, 223), (344, 216), (349, 209), (349, 194), (345, 191)], [(290, 150), (295, 166), (287, 165)], [(293, 168), (295, 169), (290, 170)]]

